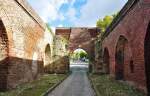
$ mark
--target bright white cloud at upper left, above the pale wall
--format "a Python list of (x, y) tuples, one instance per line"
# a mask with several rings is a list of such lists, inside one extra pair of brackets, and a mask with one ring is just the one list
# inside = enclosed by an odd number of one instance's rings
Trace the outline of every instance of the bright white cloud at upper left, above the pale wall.
[[(28, 0), (33, 8), (39, 13), (40, 17), (45, 21), (48, 20), (64, 20), (63, 14), (59, 13), (61, 5), (68, 3), (68, 0)], [(35, 2), (37, 2), (35, 4)]]

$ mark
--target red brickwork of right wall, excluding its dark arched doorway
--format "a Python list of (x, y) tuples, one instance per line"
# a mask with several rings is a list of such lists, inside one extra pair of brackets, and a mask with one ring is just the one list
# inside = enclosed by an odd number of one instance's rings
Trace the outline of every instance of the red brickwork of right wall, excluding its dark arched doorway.
[[(125, 48), (124, 75), (125, 80), (136, 87), (145, 90), (145, 64), (144, 64), (144, 40), (150, 21), (149, 0), (140, 0), (123, 19), (115, 26), (113, 31), (105, 37), (102, 47), (108, 48), (110, 55), (110, 72), (115, 76), (116, 46), (120, 36), (124, 36), (128, 43)], [(130, 60), (133, 60), (134, 72), (130, 70)]]

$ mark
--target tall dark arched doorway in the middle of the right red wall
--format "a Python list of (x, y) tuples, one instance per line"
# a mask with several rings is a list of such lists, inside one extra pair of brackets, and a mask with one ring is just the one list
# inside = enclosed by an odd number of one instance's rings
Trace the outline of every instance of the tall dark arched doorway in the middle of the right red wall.
[(115, 53), (116, 80), (124, 80), (124, 52), (125, 52), (126, 44), (127, 44), (127, 39), (123, 36), (120, 36), (116, 46), (116, 53)]

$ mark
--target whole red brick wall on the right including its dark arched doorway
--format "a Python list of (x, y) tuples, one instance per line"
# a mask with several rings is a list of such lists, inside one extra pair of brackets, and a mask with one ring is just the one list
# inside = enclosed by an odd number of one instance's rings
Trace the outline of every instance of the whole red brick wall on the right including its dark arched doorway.
[[(109, 53), (110, 74), (113, 77), (122, 74), (123, 77), (119, 78), (145, 91), (144, 41), (150, 22), (149, 5), (149, 0), (128, 1), (107, 29), (102, 41), (103, 51), (107, 48)], [(119, 39), (121, 37), (126, 41)]]

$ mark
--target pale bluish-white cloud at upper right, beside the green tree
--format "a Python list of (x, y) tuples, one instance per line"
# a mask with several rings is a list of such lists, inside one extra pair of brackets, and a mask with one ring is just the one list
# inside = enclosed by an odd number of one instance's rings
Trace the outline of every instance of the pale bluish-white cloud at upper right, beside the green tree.
[(119, 11), (127, 0), (87, 0), (81, 8), (81, 17), (75, 20), (75, 26), (96, 26), (96, 21), (105, 15)]

